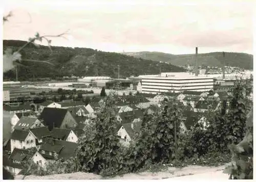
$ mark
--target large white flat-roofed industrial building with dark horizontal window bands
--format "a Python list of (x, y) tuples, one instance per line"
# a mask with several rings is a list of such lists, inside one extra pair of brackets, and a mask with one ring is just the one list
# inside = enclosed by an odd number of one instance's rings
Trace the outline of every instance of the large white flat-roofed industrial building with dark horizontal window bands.
[(161, 73), (159, 76), (141, 76), (143, 93), (209, 91), (214, 89), (214, 78), (195, 76), (187, 72)]

